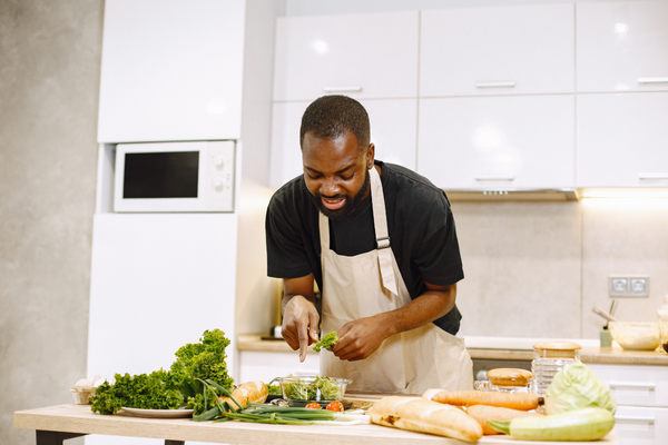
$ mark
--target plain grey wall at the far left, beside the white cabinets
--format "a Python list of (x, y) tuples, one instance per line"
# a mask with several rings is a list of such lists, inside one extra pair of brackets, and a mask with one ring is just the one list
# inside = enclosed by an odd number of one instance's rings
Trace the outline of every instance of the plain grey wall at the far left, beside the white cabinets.
[(0, 1), (0, 443), (86, 373), (102, 0)]

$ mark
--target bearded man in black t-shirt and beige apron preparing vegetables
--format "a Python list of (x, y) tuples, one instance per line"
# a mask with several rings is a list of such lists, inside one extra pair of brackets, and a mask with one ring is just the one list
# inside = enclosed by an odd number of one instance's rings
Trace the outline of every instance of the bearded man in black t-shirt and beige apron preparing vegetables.
[(415, 172), (374, 160), (366, 111), (345, 96), (308, 106), (299, 134), (304, 175), (267, 209), (268, 275), (283, 278), (283, 337), (304, 360), (322, 329), (340, 337), (321, 375), (351, 389), (422, 394), (472, 389), (458, 337), (463, 278), (445, 194)]

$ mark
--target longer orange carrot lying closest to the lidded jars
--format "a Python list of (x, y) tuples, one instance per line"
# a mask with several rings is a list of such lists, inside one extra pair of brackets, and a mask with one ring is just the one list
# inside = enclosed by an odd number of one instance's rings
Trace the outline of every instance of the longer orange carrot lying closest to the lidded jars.
[(538, 407), (538, 396), (533, 393), (428, 389), (422, 398), (459, 406), (490, 405), (521, 411), (531, 411)]

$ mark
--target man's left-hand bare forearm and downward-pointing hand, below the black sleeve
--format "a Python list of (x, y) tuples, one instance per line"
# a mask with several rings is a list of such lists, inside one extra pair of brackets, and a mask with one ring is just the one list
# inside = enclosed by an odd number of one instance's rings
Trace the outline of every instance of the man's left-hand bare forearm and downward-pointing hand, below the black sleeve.
[(317, 342), (320, 315), (315, 308), (313, 274), (283, 279), (283, 338), (293, 349), (299, 349), (299, 362), (306, 358), (308, 345)]

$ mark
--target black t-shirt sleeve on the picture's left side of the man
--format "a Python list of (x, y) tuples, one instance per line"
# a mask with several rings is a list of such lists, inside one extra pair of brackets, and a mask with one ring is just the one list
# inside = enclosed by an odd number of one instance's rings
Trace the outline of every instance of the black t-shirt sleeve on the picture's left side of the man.
[(312, 273), (301, 228), (297, 209), (278, 190), (269, 200), (265, 219), (269, 277), (297, 278)]

